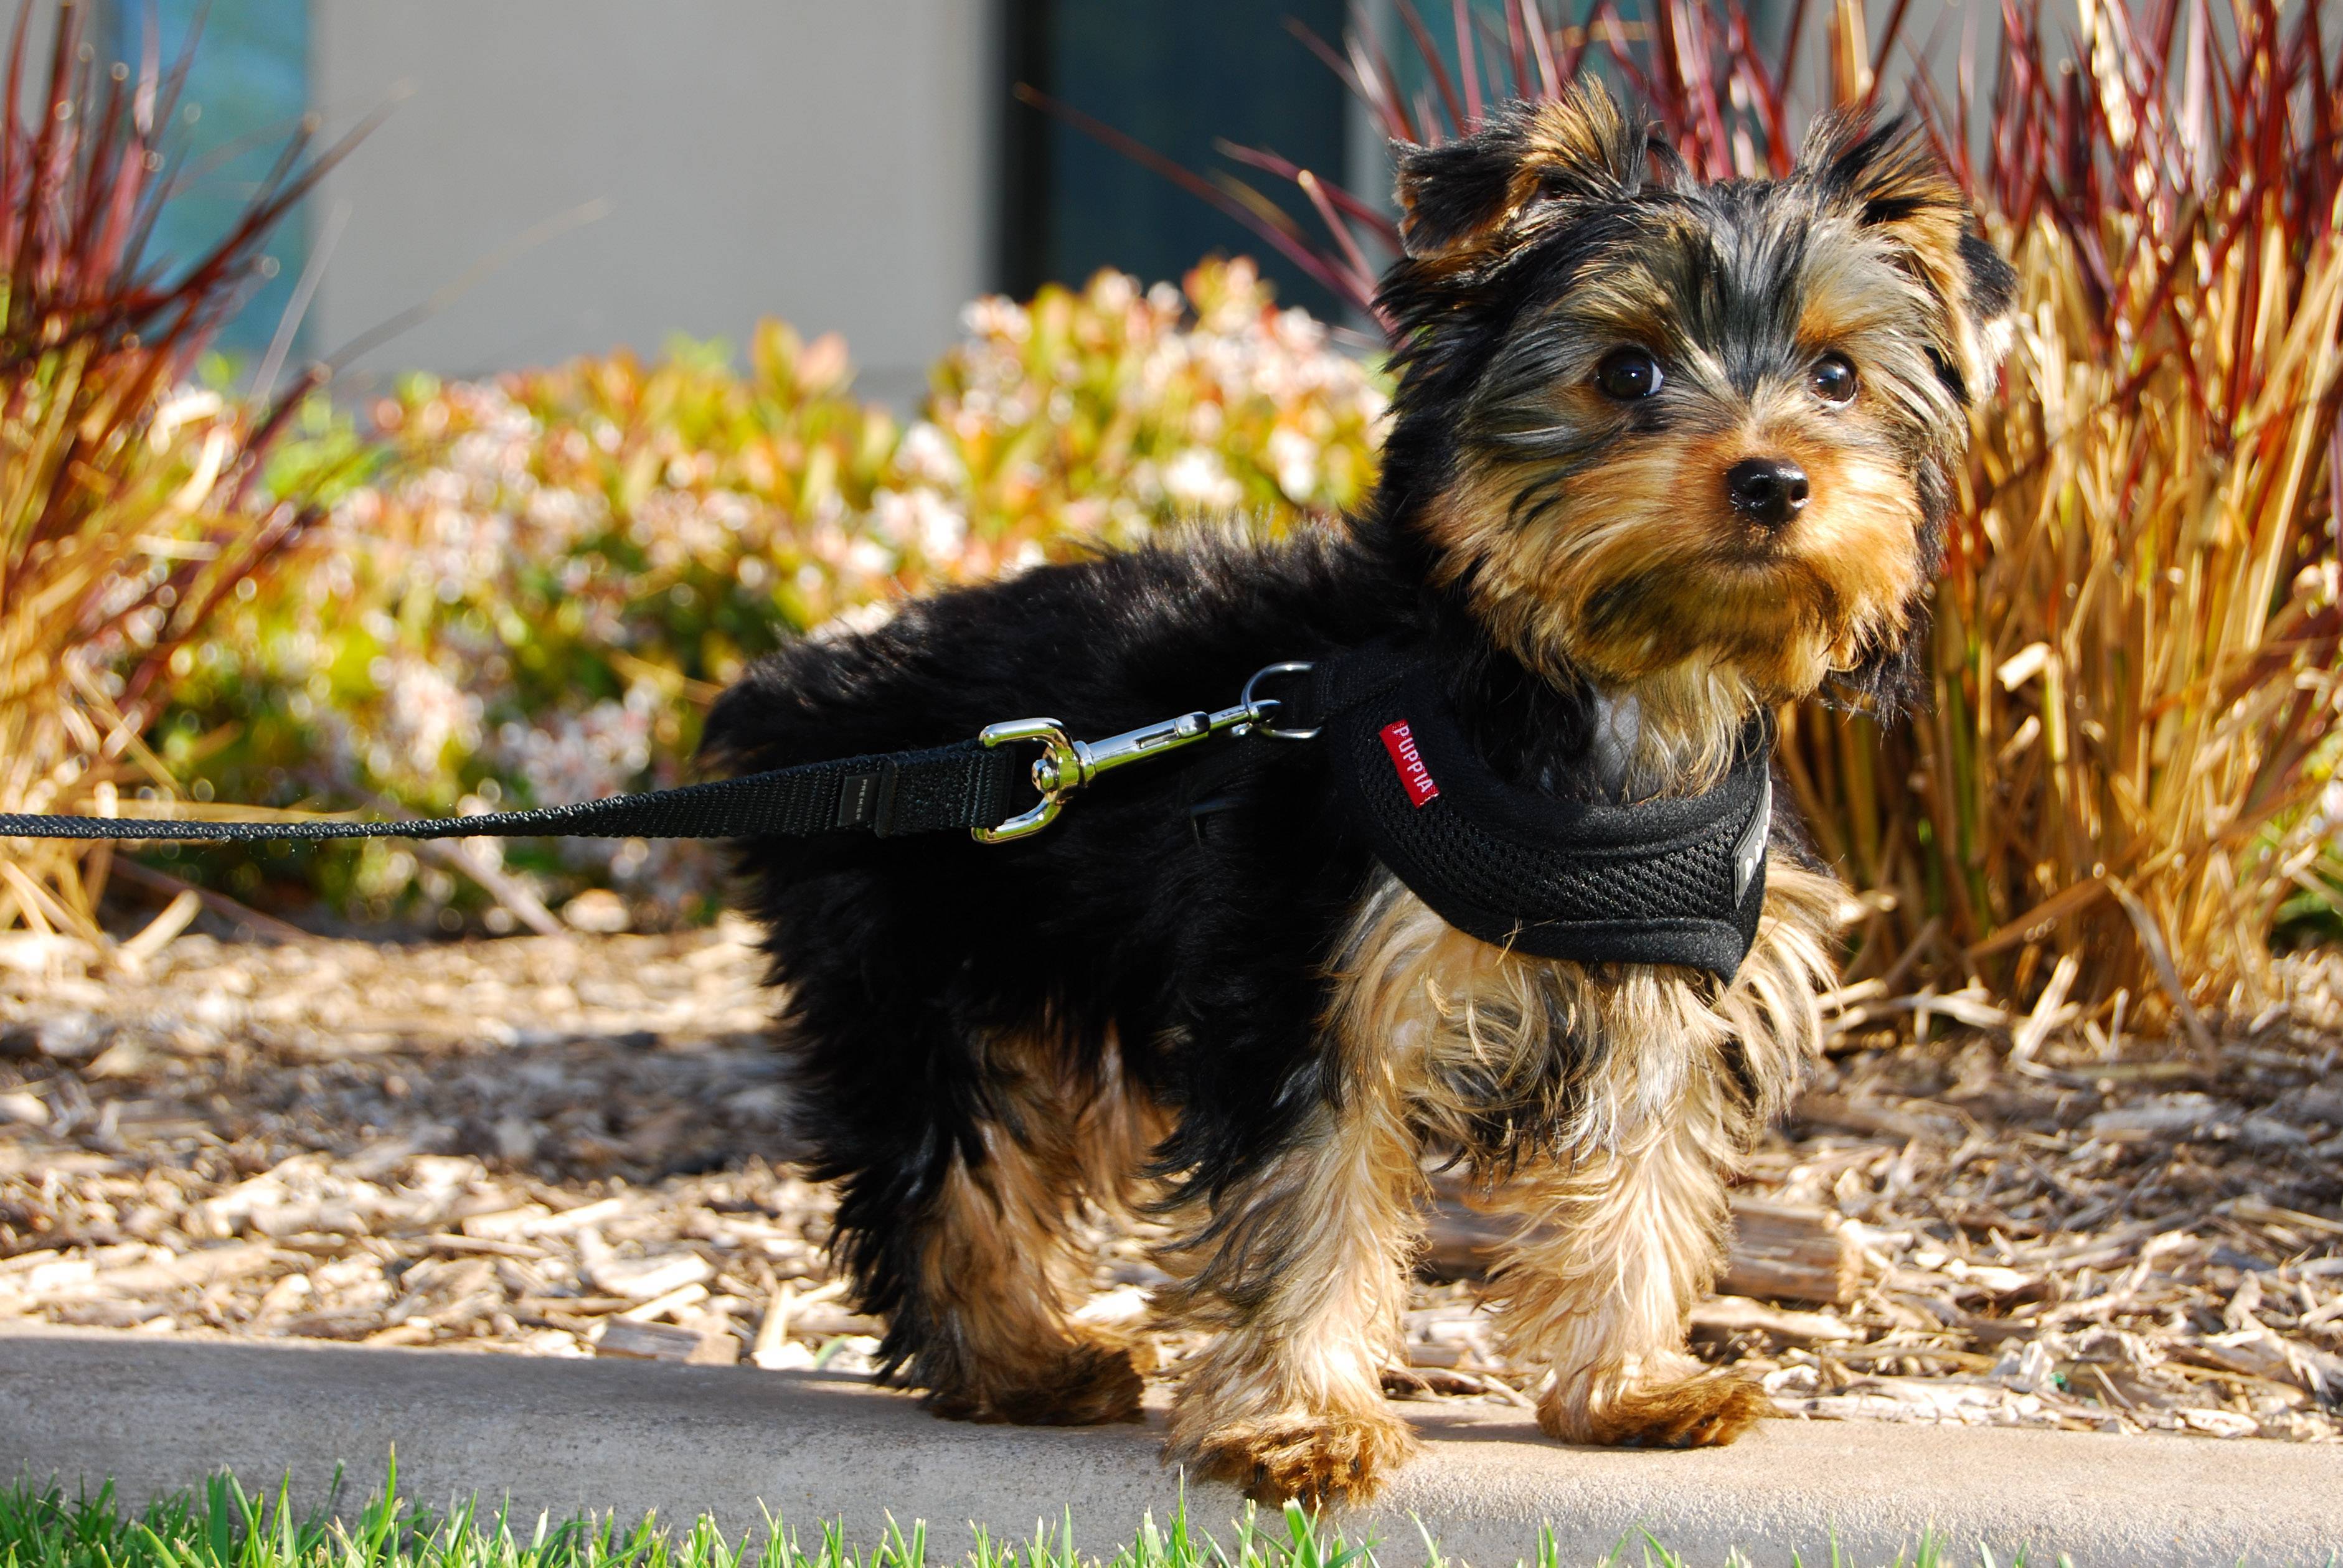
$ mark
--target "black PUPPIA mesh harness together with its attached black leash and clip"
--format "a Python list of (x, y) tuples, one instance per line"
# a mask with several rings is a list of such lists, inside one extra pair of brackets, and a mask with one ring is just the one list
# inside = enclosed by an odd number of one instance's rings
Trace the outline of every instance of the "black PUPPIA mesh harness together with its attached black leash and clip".
[[(1256, 696), (1265, 677), (1279, 677), (1275, 696)], [(1567, 802), (1497, 778), (1457, 727), (1436, 666), (1380, 647), (1314, 666), (1270, 666), (1235, 708), (1106, 741), (1071, 741), (1057, 720), (1012, 720), (958, 745), (541, 811), (370, 823), (0, 813), (0, 839), (757, 839), (956, 827), (1005, 841), (1047, 827), (1099, 773), (1218, 731), (1256, 738), (1190, 769), (1188, 802), (1197, 799), (1197, 778), (1235, 778), (1270, 757), (1277, 741), (1317, 741), (1345, 813), (1375, 855), (1441, 919), (1483, 942), (1582, 963), (1680, 963), (1729, 980), (1757, 938), (1774, 806), (1764, 720), (1750, 722), (1731, 771), (1708, 795), (1633, 806)], [(1024, 764), (1015, 743), (1038, 743), (1040, 759)], [(1209, 809), (1214, 802), (1193, 804), (1190, 816)]]

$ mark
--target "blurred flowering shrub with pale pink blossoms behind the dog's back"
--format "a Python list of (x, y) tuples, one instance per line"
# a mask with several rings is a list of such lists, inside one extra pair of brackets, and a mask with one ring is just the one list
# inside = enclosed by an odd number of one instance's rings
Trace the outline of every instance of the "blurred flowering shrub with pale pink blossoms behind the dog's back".
[[(180, 652), (166, 762), (197, 797), (431, 816), (677, 783), (705, 701), (783, 640), (1183, 518), (1333, 516), (1371, 483), (1382, 413), (1242, 260), (1186, 293), (1108, 272), (979, 300), (909, 427), (848, 396), (836, 338), (764, 323), (747, 361), (679, 345), (403, 384), (375, 410), (382, 478)], [(637, 919), (705, 914), (717, 888), (691, 844), (497, 846), (466, 848), (490, 884), (612, 886)], [(462, 858), (396, 841), (180, 870), (370, 919), (511, 919)]]

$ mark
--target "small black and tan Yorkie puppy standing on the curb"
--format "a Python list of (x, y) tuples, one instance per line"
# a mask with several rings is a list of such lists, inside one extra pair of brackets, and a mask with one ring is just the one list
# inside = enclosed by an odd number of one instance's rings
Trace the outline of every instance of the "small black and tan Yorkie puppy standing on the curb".
[[(1038, 713), (1106, 736), (1394, 638), (1502, 778), (1589, 799), (1699, 795), (1755, 713), (1825, 682), (1893, 705), (2015, 284), (1921, 141), (1823, 127), (1785, 180), (1701, 185), (1589, 87), (1403, 148), (1399, 199), (1366, 516), (909, 602), (750, 670), (710, 762)], [(1073, 1233), (1146, 1212), (1160, 1320), (1216, 1334), (1167, 1458), (1368, 1498), (1415, 1446), (1380, 1378), (1432, 1151), (1523, 1221), (1492, 1298), (1551, 1437), (1731, 1441), (1767, 1402), (1685, 1317), (1734, 1160), (1818, 1048), (1837, 884), (1776, 816), (1729, 984), (1532, 959), (1443, 923), (1331, 788), (1289, 745), (1202, 834), (1155, 762), (1015, 844), (740, 848), (888, 1373), (963, 1420), (1136, 1418), (1125, 1343), (1073, 1315)]]

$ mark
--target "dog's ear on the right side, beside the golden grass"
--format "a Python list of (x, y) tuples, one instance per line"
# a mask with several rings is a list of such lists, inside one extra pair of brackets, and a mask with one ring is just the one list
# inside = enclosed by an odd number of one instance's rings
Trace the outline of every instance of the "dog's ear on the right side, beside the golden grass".
[(1968, 405), (1992, 387), (2010, 345), (2017, 272), (1977, 227), (1945, 164), (1905, 115), (1823, 120), (1799, 157), (1823, 199), (1893, 246), (1903, 267), (1945, 307), (1938, 373)]

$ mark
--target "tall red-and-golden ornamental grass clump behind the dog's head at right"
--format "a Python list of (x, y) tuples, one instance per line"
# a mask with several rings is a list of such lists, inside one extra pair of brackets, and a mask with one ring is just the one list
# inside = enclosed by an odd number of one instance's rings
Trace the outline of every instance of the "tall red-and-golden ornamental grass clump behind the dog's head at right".
[[(1872, 38), (1842, 0), (1799, 68), (1809, 9), (1760, 40), (1736, 0), (1654, 0), (1635, 23), (1603, 0), (1577, 28), (1539, 0), (1504, 0), (1502, 26), (1460, 5), (1443, 52), (1399, 0), (1420, 94), (1373, 38), (1305, 42), (1396, 138), (1460, 136), (1598, 68), (1699, 176), (1757, 178), (1795, 162), (1802, 103), (1888, 96), (1907, 42), (1910, 7)], [(2083, 0), (2078, 35), (2055, 38), (2041, 0), (2008, 0), (1992, 94), (1973, 103), (1970, 82), (1963, 63), (1945, 103), (1907, 75), (2022, 307), (1975, 408), (1928, 708), (1893, 727), (1802, 708), (1783, 762), (1860, 893), (1851, 1001), (1982, 984), (2043, 1027), (2202, 1038), (2202, 1010), (2277, 998), (2280, 916), (2331, 921), (2343, 888), (2343, 799), (2317, 809), (2343, 635), (2343, 63), (2317, 5)], [(1293, 180), (1326, 237), (1265, 197), (1237, 206), (1371, 309), (1375, 258), (1396, 253), (1382, 209), (1235, 155)]]

